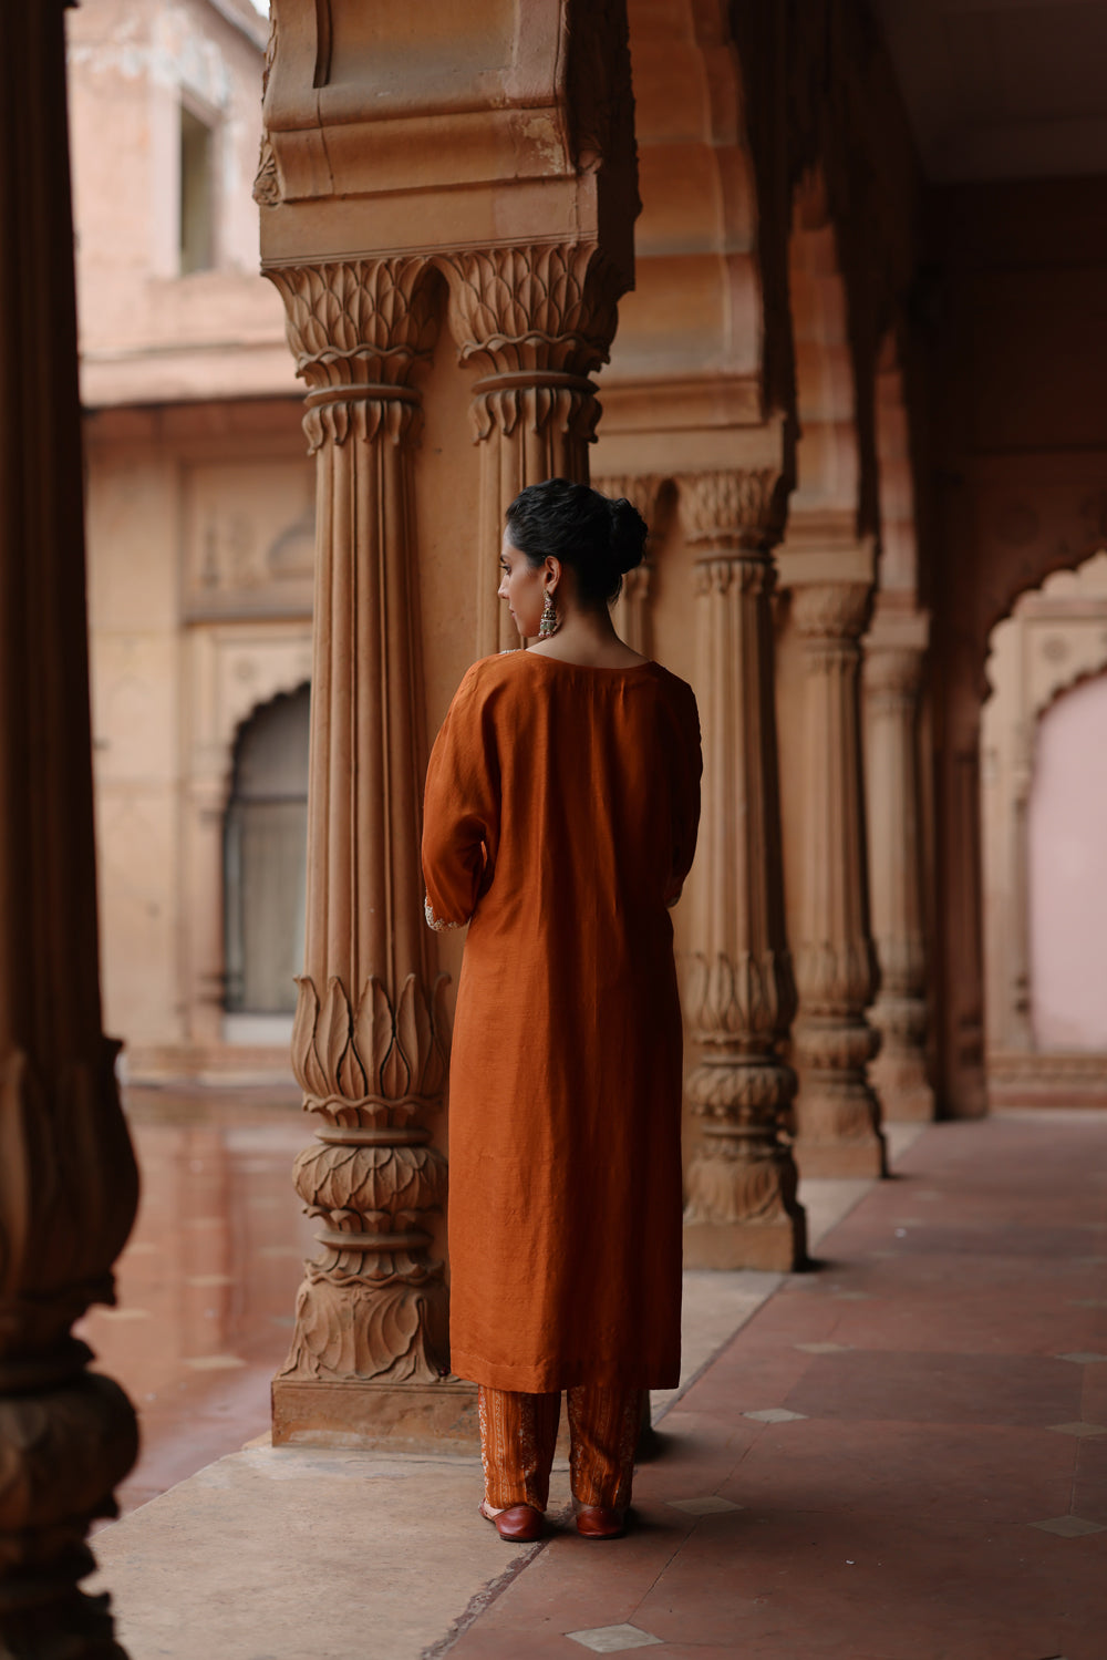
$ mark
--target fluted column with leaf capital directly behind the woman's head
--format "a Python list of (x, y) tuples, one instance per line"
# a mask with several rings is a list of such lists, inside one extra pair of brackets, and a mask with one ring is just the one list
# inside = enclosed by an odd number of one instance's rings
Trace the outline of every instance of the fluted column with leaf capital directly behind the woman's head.
[(493, 247), (440, 261), (463, 364), (476, 362), (471, 422), (480, 463), (476, 656), (519, 644), (496, 599), (503, 515), (526, 485), (588, 483), (599, 403), (589, 375), (607, 362), (626, 289), (596, 242)]

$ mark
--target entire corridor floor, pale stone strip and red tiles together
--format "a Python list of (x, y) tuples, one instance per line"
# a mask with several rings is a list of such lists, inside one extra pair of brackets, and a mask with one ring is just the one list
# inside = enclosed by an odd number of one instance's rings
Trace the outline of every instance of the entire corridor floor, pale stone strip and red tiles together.
[[(659, 1423), (631, 1534), (252, 1446), (98, 1534), (131, 1660), (1107, 1660), (1107, 1114), (928, 1127)], [(734, 1330), (730, 1326), (729, 1330)]]

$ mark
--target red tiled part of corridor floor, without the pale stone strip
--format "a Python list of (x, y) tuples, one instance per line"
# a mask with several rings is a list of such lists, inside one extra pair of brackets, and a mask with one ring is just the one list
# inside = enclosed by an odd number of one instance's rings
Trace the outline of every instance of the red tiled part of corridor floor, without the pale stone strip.
[[(1104, 1114), (928, 1129), (662, 1421), (637, 1529), (558, 1529), (451, 1660), (622, 1622), (659, 1660), (1105, 1660), (1107, 1532), (1031, 1526), (1107, 1522), (1107, 1436), (1051, 1428), (1107, 1424), (1107, 1365), (1056, 1358), (1107, 1353), (1105, 1155)], [(704, 1494), (742, 1507), (669, 1502)]]

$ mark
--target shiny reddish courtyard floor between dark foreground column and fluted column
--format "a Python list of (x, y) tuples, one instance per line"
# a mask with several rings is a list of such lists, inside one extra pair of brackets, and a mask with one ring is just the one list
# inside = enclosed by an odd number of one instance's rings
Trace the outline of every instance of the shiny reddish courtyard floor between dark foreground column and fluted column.
[(116, 1267), (118, 1308), (76, 1328), (138, 1408), (143, 1451), (118, 1491), (133, 1511), (269, 1428), (304, 1257), (317, 1248), (292, 1190), (310, 1140), (299, 1097), (247, 1089), (129, 1089), (143, 1174)]

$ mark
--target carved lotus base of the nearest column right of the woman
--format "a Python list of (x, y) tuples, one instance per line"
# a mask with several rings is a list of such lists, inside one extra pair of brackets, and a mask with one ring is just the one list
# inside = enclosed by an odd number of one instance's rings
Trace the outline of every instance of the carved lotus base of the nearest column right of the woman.
[(807, 1258), (797, 1169), (780, 1139), (778, 1106), (795, 1079), (773, 1056), (710, 1052), (687, 1082), (702, 1144), (687, 1169), (687, 1268), (790, 1273)]

